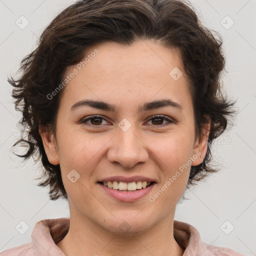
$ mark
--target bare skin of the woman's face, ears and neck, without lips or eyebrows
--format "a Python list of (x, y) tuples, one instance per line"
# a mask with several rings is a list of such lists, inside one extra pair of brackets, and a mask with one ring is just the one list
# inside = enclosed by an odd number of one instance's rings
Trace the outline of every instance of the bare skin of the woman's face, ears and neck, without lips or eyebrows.
[[(182, 255), (184, 249), (173, 237), (175, 206), (182, 196), (191, 165), (154, 201), (148, 197), (159, 190), (189, 157), (206, 154), (209, 123), (205, 136), (195, 137), (192, 98), (182, 61), (176, 49), (151, 40), (131, 46), (113, 42), (94, 45), (98, 53), (65, 85), (57, 112), (56, 136), (40, 129), (45, 152), (52, 164), (60, 164), (68, 194), (70, 228), (57, 244), (66, 255)], [(74, 66), (66, 70), (72, 72)], [(174, 80), (169, 72), (178, 67), (183, 75)], [(117, 113), (82, 106), (70, 111), (79, 100), (111, 103)], [(165, 106), (138, 112), (147, 101), (171, 99), (182, 109)], [(53, 99), (54, 100), (54, 99)], [(90, 115), (103, 119), (82, 119)], [(151, 119), (161, 114), (175, 120)], [(126, 118), (131, 126), (123, 131), (118, 123)], [(165, 125), (168, 124), (168, 125)], [(97, 128), (98, 126), (99, 128)], [(67, 174), (75, 169), (74, 183)], [(107, 195), (96, 180), (113, 175), (144, 175), (154, 178), (150, 194), (134, 202)], [(126, 221), (128, 232), (118, 226)]]

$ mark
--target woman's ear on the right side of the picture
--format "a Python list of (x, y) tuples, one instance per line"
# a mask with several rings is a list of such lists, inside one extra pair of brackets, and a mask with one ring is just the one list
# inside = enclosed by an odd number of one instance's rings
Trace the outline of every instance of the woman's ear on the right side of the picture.
[(208, 122), (204, 124), (201, 137), (197, 138), (194, 143), (192, 164), (191, 164), (193, 166), (199, 165), (200, 163), (202, 163), (204, 159), (204, 156), (207, 151), (207, 141), (209, 137), (209, 131), (210, 131), (210, 120), (208, 120)]

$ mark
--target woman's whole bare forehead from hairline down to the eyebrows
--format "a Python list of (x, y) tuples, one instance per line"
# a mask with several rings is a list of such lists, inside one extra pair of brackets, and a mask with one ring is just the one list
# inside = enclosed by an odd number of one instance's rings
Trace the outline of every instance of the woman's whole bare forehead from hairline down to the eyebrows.
[(134, 104), (166, 95), (177, 102), (189, 97), (178, 50), (150, 40), (128, 46), (114, 42), (90, 46), (82, 61), (67, 68), (65, 76), (71, 73), (75, 74), (61, 99), (69, 105), (84, 98)]

